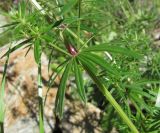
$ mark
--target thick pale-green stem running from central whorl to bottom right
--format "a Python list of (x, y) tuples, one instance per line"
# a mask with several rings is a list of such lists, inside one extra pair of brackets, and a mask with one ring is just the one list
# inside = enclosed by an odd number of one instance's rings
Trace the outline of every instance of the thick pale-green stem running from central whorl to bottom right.
[(116, 100), (112, 97), (110, 92), (107, 90), (107, 88), (100, 82), (100, 80), (96, 77), (96, 75), (86, 66), (83, 65), (89, 76), (93, 79), (93, 81), (96, 83), (97, 87), (100, 89), (102, 94), (105, 96), (105, 98), (112, 104), (112, 106), (115, 108), (115, 110), (118, 112), (120, 117), (123, 119), (123, 121), (130, 127), (131, 131), (133, 133), (139, 133), (135, 125), (132, 123), (132, 121), (127, 117), (127, 115), (124, 113), (120, 105), (116, 102)]

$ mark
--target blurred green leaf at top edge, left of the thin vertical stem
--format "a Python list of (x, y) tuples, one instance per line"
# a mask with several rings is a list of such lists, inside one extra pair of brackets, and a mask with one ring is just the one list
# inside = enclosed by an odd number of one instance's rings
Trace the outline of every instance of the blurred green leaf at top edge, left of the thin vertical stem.
[(60, 15), (69, 12), (76, 3), (77, 3), (77, 0), (69, 0), (67, 4), (63, 6)]

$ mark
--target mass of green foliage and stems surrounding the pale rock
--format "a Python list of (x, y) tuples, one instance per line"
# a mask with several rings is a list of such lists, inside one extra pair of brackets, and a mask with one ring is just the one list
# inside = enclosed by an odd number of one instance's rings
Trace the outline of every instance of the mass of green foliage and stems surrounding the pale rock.
[[(67, 80), (74, 76), (80, 99), (84, 103), (87, 99), (92, 101), (104, 112), (101, 122), (104, 132), (113, 128), (122, 133), (158, 132), (159, 110), (155, 101), (160, 79), (160, 50), (152, 47), (150, 32), (158, 21), (160, 3), (157, 0), (153, 3), (147, 0), (39, 0), (42, 9), (38, 3), (31, 3), (19, 3), (10, 11), (11, 22), (1, 26), (13, 33), (11, 41), (25, 39), (2, 58), (22, 47), (34, 48), (41, 86), (40, 57), (42, 52), (49, 56), (48, 69), (57, 67), (53, 69), (56, 74), (51, 75), (48, 90), (55, 78), (62, 75), (56, 114), (63, 117)], [(93, 82), (88, 78), (84, 82), (84, 70)], [(88, 88), (92, 87), (89, 93)], [(101, 99), (92, 95), (96, 87)], [(40, 124), (43, 124), (42, 99), (40, 105)]]

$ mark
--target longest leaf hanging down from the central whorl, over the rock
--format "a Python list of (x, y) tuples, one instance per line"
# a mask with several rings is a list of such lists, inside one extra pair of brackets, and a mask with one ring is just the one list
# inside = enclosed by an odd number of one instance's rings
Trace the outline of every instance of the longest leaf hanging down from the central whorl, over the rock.
[(65, 97), (65, 90), (66, 90), (66, 83), (69, 76), (69, 72), (71, 69), (72, 61), (69, 62), (64, 70), (64, 73), (62, 75), (60, 85), (58, 88), (58, 92), (56, 95), (56, 103), (55, 103), (55, 111), (56, 115), (59, 116), (61, 119), (63, 116), (63, 108), (64, 108), (64, 97)]

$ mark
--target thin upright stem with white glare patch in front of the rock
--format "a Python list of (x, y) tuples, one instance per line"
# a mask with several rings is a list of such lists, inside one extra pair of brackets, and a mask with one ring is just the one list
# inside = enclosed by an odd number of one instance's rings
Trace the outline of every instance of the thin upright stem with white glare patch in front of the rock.
[(41, 63), (39, 63), (38, 65), (38, 100), (39, 100), (39, 130), (40, 133), (44, 133)]

